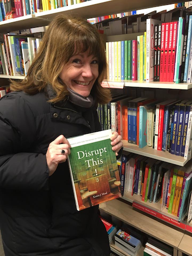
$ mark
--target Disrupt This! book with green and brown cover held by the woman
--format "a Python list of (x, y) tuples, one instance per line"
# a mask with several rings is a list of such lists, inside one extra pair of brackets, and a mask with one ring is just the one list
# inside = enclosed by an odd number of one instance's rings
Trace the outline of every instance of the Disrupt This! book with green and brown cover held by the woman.
[(78, 211), (121, 197), (111, 135), (111, 130), (105, 130), (68, 139), (68, 164)]

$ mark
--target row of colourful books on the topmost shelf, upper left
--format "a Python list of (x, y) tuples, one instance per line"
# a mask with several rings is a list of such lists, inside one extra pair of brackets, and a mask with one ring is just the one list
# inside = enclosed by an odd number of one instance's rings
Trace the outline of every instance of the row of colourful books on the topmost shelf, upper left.
[(19, 0), (0, 1), (0, 21), (9, 20), (36, 12), (48, 11), (91, 0)]

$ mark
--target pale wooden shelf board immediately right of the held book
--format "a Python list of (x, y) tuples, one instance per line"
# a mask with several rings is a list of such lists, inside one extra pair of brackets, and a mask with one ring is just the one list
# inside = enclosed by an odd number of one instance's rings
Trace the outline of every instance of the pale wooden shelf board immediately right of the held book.
[(128, 143), (126, 140), (123, 140), (123, 150), (179, 166), (184, 166), (188, 162), (188, 160), (182, 156), (172, 155), (167, 151), (155, 150), (148, 146), (139, 148), (139, 146)]

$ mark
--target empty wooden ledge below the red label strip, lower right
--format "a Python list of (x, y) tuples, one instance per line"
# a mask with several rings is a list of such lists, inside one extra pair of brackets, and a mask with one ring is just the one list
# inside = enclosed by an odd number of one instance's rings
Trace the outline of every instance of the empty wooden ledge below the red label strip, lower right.
[[(100, 210), (177, 249), (183, 231), (175, 230), (133, 209), (117, 199), (100, 204)], [(166, 230), (166, 231), (165, 231)], [(192, 243), (191, 243), (192, 244)]]

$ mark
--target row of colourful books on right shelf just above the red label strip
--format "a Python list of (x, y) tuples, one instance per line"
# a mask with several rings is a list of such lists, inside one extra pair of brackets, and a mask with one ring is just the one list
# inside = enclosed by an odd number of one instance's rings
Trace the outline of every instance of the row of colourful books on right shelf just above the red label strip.
[(141, 196), (141, 201), (161, 202), (161, 211), (183, 220), (188, 214), (192, 189), (191, 161), (185, 167), (135, 154), (122, 156), (121, 191)]

